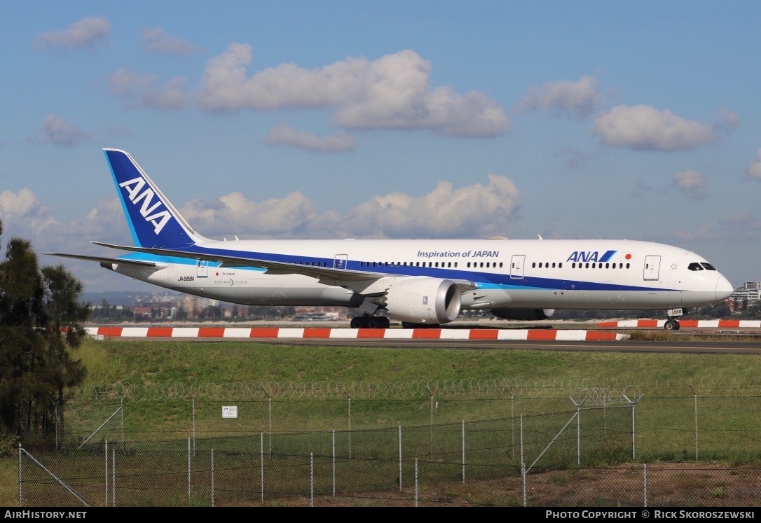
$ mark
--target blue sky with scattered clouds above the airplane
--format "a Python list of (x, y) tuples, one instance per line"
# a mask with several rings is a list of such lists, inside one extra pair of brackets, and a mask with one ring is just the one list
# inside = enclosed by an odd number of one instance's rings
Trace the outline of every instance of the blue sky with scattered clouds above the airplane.
[(212, 238), (645, 239), (761, 280), (758, 2), (3, 7), (4, 242), (119, 255), (116, 147)]

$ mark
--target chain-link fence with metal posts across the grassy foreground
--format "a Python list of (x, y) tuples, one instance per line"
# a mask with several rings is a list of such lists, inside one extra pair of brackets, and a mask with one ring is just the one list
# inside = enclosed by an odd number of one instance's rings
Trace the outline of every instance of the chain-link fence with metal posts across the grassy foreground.
[(54, 445), (19, 449), (19, 504), (759, 505), (753, 388), (476, 383), (80, 398)]

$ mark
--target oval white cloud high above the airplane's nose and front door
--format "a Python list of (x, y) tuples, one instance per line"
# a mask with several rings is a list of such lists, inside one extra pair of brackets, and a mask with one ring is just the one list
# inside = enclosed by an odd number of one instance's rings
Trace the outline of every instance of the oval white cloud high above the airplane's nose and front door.
[(636, 151), (692, 149), (716, 140), (707, 125), (642, 105), (613, 107), (597, 116), (591, 133), (608, 145)]

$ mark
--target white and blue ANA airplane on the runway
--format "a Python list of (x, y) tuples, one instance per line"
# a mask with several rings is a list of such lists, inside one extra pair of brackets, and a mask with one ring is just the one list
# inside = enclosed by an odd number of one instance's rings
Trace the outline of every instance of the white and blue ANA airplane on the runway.
[(556, 309), (664, 309), (718, 303), (734, 287), (705, 258), (626, 239), (209, 239), (126, 151), (103, 148), (132, 246), (100, 262), (119, 274), (241, 305), (358, 309), (351, 328), (440, 326), (463, 311), (541, 321)]

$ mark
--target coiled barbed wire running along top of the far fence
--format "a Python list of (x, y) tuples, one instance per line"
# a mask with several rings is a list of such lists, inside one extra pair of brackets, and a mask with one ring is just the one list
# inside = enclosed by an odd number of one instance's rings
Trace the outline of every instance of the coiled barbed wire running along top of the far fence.
[[(528, 397), (533, 394), (572, 397), (595, 404), (626, 403), (639, 395), (693, 395), (711, 391), (721, 395), (761, 394), (761, 379), (677, 378), (634, 379), (433, 379), (408, 382), (234, 382), (234, 383), (137, 383), (91, 385), (72, 390), (70, 399), (263, 400), (279, 399), (414, 399), (436, 397)], [(622, 396), (626, 395), (626, 398)]]

